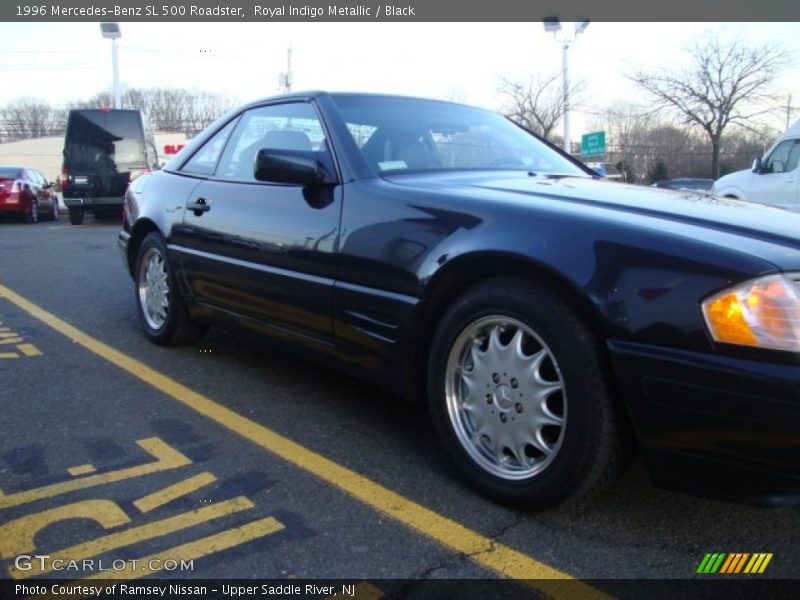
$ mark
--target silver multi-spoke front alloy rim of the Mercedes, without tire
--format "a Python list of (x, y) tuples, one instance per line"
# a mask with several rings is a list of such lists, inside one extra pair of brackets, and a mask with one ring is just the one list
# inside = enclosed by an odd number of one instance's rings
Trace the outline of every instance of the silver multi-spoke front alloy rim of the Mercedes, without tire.
[(503, 315), (473, 321), (445, 377), (453, 431), (482, 469), (519, 481), (547, 468), (564, 437), (567, 397), (552, 352), (530, 327)]

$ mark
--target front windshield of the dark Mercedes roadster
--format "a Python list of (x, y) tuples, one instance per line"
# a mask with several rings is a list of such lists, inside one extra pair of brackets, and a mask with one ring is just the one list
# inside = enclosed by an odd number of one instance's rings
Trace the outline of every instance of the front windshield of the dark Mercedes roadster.
[(414, 98), (333, 97), (362, 156), (378, 173), (498, 169), (589, 176), (490, 111)]

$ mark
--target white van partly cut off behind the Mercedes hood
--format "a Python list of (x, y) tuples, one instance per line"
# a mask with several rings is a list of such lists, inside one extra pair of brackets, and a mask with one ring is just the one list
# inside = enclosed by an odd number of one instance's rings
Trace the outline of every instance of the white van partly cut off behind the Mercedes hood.
[(712, 192), (800, 211), (800, 121), (755, 159), (751, 169), (717, 179)]

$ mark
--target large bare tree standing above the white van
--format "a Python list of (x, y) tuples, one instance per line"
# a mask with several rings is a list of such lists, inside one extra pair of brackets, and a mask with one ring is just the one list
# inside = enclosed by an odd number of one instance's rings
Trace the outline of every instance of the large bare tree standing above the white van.
[(685, 123), (700, 127), (711, 144), (711, 173), (719, 177), (720, 142), (729, 125), (743, 125), (772, 110), (769, 88), (786, 63), (784, 50), (748, 46), (736, 40), (706, 38), (688, 53), (692, 67), (683, 71), (637, 71), (630, 79)]

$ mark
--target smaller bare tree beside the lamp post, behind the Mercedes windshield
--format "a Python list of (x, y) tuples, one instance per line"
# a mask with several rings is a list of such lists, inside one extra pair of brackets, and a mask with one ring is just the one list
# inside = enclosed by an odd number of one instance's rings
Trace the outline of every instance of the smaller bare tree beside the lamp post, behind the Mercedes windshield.
[[(582, 103), (584, 89), (581, 81), (571, 85), (571, 109)], [(524, 82), (503, 78), (497, 91), (503, 96), (503, 114), (518, 125), (552, 141), (553, 129), (564, 116), (561, 73), (534, 76)]]

